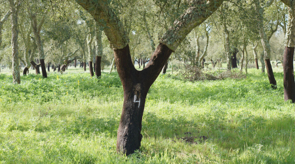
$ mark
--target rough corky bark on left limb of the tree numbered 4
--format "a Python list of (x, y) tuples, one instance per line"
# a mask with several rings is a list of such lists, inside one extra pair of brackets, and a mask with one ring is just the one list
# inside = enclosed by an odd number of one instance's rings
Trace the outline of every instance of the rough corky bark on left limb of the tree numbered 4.
[(122, 49), (129, 43), (129, 38), (122, 22), (104, 0), (75, 0), (87, 10), (95, 21), (104, 29), (112, 49)]

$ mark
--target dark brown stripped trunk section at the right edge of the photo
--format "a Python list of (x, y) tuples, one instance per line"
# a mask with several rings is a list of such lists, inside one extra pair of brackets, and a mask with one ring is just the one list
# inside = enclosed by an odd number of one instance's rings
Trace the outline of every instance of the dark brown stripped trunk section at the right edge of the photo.
[(285, 101), (295, 102), (295, 82), (293, 71), (294, 47), (285, 47), (283, 70), (284, 70), (284, 98)]

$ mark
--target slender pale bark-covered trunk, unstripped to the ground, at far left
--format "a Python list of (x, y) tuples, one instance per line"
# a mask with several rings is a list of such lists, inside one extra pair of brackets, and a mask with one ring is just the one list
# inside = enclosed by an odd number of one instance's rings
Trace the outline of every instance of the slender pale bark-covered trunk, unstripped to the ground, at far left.
[(21, 83), (21, 75), (18, 63), (18, 8), (19, 4), (14, 4), (14, 0), (9, 0), (11, 10), (11, 48), (12, 48), (12, 79), (14, 84)]

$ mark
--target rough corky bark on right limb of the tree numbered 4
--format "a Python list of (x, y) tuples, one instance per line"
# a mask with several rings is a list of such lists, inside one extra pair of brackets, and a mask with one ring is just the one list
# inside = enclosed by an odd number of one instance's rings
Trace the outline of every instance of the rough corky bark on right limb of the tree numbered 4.
[(196, 26), (205, 21), (222, 3), (223, 0), (195, 0), (185, 13), (174, 21), (172, 27), (160, 39), (172, 51), (175, 51), (182, 40)]

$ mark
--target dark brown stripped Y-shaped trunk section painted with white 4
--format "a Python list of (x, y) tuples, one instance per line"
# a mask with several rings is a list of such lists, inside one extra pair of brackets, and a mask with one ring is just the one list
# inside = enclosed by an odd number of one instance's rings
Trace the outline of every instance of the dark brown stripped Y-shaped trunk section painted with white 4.
[(129, 46), (114, 50), (117, 71), (124, 89), (123, 110), (117, 131), (117, 151), (127, 155), (140, 148), (141, 123), (146, 95), (171, 55), (164, 44), (159, 44), (143, 71), (132, 63)]

